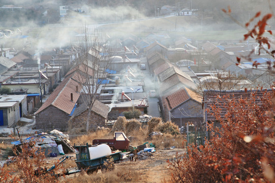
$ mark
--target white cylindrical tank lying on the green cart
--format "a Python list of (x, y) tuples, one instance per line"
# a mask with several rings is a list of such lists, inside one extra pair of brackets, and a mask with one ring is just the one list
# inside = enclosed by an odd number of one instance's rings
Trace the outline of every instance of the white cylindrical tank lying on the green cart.
[(112, 154), (111, 148), (107, 144), (100, 144), (89, 147), (89, 152), (91, 160)]

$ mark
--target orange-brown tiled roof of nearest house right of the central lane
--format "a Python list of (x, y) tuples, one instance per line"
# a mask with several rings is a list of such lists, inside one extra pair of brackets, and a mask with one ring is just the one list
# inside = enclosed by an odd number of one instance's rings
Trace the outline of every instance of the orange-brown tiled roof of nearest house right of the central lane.
[(189, 99), (193, 99), (199, 103), (202, 103), (202, 96), (196, 94), (186, 87), (182, 87), (173, 94), (167, 96), (164, 98), (163, 102), (166, 103), (166, 106), (169, 110), (172, 110)]

